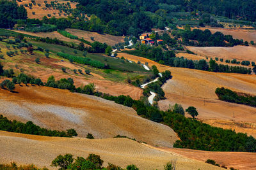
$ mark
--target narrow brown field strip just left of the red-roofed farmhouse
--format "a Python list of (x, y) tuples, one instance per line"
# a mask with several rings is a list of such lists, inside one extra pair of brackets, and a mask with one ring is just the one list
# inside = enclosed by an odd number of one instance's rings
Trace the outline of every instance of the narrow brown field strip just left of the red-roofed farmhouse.
[[(78, 38), (83, 38), (86, 41), (90, 41), (91, 43), (94, 41), (99, 41), (100, 43), (107, 43), (108, 45), (113, 46), (117, 43), (124, 42), (124, 37), (122, 36), (99, 34), (97, 32), (83, 31), (79, 29), (66, 29), (66, 31), (70, 32), (74, 36), (78, 36)], [(91, 37), (93, 37), (94, 40), (92, 40)]]

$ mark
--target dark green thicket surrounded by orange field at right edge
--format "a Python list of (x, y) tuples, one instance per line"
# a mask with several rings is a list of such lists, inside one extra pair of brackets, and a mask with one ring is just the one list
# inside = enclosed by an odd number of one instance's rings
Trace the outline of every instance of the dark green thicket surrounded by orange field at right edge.
[(217, 88), (215, 93), (221, 101), (256, 107), (256, 96), (253, 97), (248, 94), (238, 94), (237, 92), (225, 89), (224, 87)]

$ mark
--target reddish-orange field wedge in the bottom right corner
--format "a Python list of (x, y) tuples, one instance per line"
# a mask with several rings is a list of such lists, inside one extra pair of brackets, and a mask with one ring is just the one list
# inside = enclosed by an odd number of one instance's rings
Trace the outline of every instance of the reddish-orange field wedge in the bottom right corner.
[(256, 154), (246, 152), (208, 152), (202, 150), (189, 150), (180, 148), (157, 148), (161, 151), (169, 153), (177, 153), (190, 159), (196, 159), (204, 161), (212, 159), (216, 161), (216, 164), (220, 166), (225, 165), (228, 167), (234, 167), (236, 169), (255, 169), (256, 167)]

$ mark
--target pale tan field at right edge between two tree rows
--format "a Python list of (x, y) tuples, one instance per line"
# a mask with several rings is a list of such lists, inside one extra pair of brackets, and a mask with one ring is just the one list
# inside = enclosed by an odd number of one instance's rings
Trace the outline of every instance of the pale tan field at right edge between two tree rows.
[(204, 57), (219, 57), (225, 60), (237, 59), (239, 61), (248, 60), (250, 62), (256, 60), (256, 48), (253, 46), (233, 46), (233, 47), (198, 47), (198, 46), (186, 46), (189, 50), (202, 55)]

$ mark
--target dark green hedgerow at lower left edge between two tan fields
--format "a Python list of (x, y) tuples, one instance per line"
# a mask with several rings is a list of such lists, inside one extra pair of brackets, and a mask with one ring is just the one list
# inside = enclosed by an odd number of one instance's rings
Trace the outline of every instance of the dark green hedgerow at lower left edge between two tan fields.
[(31, 121), (24, 124), (16, 120), (8, 120), (6, 117), (3, 117), (3, 115), (0, 115), (0, 130), (41, 136), (72, 137), (72, 134), (68, 134), (64, 131), (51, 131), (49, 129), (44, 129), (33, 124)]

